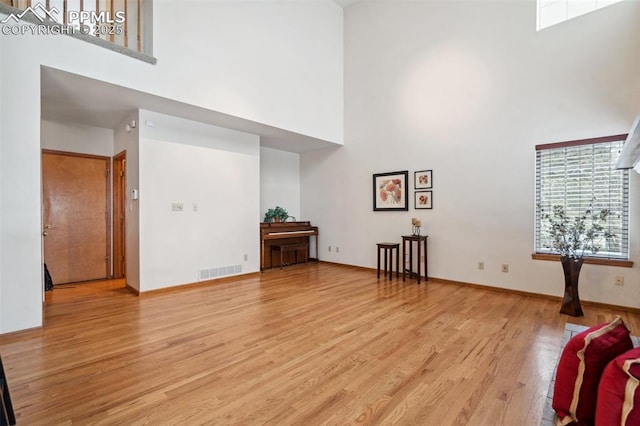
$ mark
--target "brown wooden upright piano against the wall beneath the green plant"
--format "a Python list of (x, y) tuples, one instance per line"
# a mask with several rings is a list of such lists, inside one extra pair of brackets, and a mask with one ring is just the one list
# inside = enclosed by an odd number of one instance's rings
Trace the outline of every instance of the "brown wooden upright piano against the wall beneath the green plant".
[[(311, 222), (260, 223), (260, 270), (271, 268), (271, 246), (306, 242), (310, 247), (311, 237), (316, 237), (316, 256), (318, 256), (318, 227), (312, 226)], [(309, 257), (309, 251), (308, 249), (307, 257)], [(293, 256), (286, 259), (287, 263), (293, 263), (292, 258)]]

